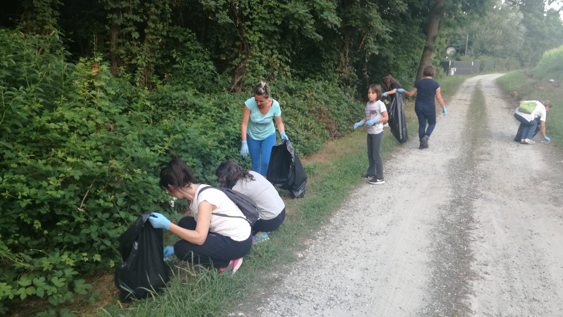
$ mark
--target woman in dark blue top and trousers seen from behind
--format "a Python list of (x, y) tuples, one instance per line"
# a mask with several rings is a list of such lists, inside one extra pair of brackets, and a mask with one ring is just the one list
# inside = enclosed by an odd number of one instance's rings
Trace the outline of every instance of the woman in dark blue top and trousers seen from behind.
[[(414, 112), (416, 112), (418, 117), (418, 137), (421, 142), (418, 148), (420, 149), (428, 147), (428, 138), (430, 138), (430, 134), (432, 134), (432, 130), (436, 126), (434, 96), (436, 96), (440, 106), (442, 106), (443, 114), (446, 115), (448, 113), (446, 105), (444, 105), (444, 99), (442, 99), (440, 94), (440, 84), (432, 79), (435, 75), (436, 70), (434, 67), (426, 66), (423, 73), (424, 78), (414, 84), (413, 90), (397, 89), (397, 92), (404, 92), (409, 97), (417, 94), (417, 99), (414, 102)], [(426, 127), (427, 122), (428, 128)]]

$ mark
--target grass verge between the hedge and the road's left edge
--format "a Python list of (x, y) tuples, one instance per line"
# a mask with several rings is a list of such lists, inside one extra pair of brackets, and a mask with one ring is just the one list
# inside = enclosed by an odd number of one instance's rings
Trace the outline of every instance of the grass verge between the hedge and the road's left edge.
[[(447, 76), (440, 79), (443, 96), (452, 96), (467, 77)], [(414, 137), (417, 135), (418, 124), (412, 105), (408, 107), (407, 114), (409, 135)], [(235, 275), (204, 270), (194, 277), (185, 264), (178, 263), (173, 269), (173, 278), (166, 291), (158, 293), (154, 298), (132, 304), (111, 304), (99, 311), (99, 315), (226, 315), (229, 311), (236, 311), (240, 303), (256, 301), (263, 292), (270, 292), (271, 289), (267, 286), (275, 282), (275, 278), (268, 273), (294, 261), (296, 251), (303, 248), (302, 242), (311, 238), (350, 191), (364, 181), (360, 175), (365, 173), (368, 166), (365, 131), (356, 131), (337, 142), (351, 151), (342, 151), (346, 154), (306, 166), (307, 173), (314, 182), (307, 188), (305, 198), (286, 203), (288, 214), (282, 227), (270, 234), (270, 241), (252, 247)], [(389, 158), (400, 146), (386, 130), (382, 146), (383, 159)]]

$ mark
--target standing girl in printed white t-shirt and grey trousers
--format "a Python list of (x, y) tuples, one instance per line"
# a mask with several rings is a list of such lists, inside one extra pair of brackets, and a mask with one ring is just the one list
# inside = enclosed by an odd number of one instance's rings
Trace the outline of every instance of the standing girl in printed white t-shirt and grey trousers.
[(354, 124), (354, 129), (360, 125), (368, 125), (368, 173), (364, 178), (370, 184), (385, 184), (383, 180), (383, 160), (381, 158), (381, 144), (383, 144), (383, 123), (387, 122), (387, 108), (381, 100), (381, 86), (372, 84), (368, 87), (368, 103), (365, 105), (365, 117)]

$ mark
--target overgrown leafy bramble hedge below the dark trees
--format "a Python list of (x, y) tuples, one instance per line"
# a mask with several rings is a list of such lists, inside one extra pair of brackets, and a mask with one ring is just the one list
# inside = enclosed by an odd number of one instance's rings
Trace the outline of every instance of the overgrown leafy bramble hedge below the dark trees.
[[(249, 92), (149, 91), (112, 77), (102, 57), (68, 55), (56, 33), (0, 30), (0, 314), (30, 297), (86, 295), (81, 275), (120, 263), (131, 221), (175, 212), (157, 185), (172, 156), (207, 183), (222, 160), (249, 166), (239, 156)], [(327, 81), (272, 83), (272, 95), (301, 155), (349, 132), (363, 109)]]

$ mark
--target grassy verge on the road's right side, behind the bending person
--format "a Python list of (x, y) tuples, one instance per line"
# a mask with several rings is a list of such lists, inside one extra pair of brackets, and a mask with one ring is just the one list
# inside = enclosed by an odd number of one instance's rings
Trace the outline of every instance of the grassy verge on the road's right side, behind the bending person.
[[(563, 89), (561, 84), (549, 83), (548, 80), (529, 78), (525, 70), (511, 71), (497, 79), (497, 83), (508, 93), (517, 92), (514, 108), (520, 100), (549, 100), (553, 107), (547, 112), (546, 134), (552, 142), (563, 145)], [(543, 89), (538, 89), (543, 88)], [(514, 132), (516, 134), (516, 131)], [(538, 133), (535, 140), (542, 141)]]

